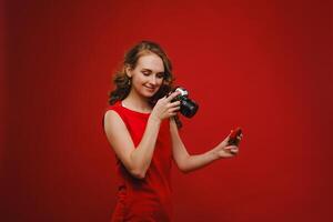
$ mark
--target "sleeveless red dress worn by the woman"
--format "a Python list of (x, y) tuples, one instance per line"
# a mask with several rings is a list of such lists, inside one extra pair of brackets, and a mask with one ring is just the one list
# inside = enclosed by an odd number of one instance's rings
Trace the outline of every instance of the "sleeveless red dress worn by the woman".
[[(137, 147), (145, 130), (149, 113), (129, 110), (117, 102), (108, 110), (115, 111), (125, 123)], [(169, 120), (161, 123), (151, 164), (144, 179), (132, 176), (117, 158), (118, 202), (112, 222), (171, 221), (171, 139)]]

